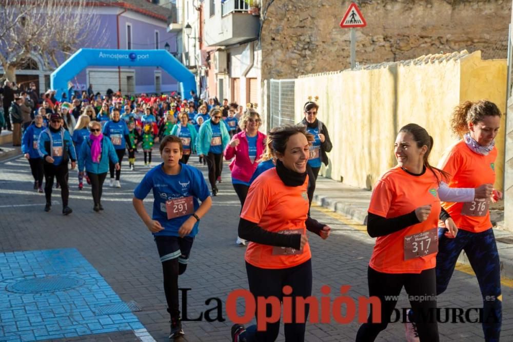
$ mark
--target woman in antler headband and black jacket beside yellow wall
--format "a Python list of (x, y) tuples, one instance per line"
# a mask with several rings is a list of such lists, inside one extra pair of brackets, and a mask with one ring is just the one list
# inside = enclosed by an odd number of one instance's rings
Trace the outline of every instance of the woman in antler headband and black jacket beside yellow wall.
[[(315, 100), (319, 100), (316, 96)], [(308, 133), (312, 134), (315, 138), (312, 146), (310, 147), (310, 159), (308, 159), (308, 202), (312, 205), (313, 192), (315, 191), (315, 182), (321, 169), (321, 164), (324, 163), (328, 166), (328, 156), (326, 152), (332, 149), (331, 140), (329, 139), (328, 129), (321, 120), (317, 119), (317, 111), (319, 105), (311, 100), (309, 97), (308, 102), (304, 106), (305, 118), (301, 124), (306, 126)]]

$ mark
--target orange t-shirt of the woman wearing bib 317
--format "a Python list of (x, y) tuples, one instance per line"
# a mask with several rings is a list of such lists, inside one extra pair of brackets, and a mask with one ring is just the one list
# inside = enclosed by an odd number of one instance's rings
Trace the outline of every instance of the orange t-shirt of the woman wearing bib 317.
[(378, 237), (369, 263), (372, 269), (383, 273), (421, 273), (436, 266), (437, 253), (404, 260), (404, 237), (438, 227), (441, 207), (437, 189), (437, 178), (429, 169), (415, 176), (396, 166), (378, 180), (372, 191), (369, 213), (393, 218), (431, 205), (431, 214), (422, 223)]

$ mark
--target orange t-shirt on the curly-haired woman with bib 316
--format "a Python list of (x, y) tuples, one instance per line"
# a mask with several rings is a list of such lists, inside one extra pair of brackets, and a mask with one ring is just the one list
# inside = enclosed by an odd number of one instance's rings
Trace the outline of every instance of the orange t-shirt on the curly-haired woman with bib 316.
[[(439, 168), (450, 174), (449, 187), (477, 188), (486, 183), (495, 183), (496, 158), (495, 147), (488, 155), (482, 155), (470, 150), (465, 141), (460, 140), (447, 149), (440, 160)], [(461, 214), (464, 203), (442, 202), (442, 206), (460, 229), (480, 233), (491, 228), (488, 210), (484, 216), (468, 216)]]

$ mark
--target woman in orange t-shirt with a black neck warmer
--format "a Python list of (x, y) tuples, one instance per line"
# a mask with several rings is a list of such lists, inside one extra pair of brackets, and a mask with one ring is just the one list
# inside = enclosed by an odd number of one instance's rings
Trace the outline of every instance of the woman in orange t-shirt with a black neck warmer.
[[(330, 228), (308, 216), (309, 134), (303, 126), (285, 126), (270, 132), (269, 136), (278, 157), (277, 165), (264, 172), (249, 188), (239, 222), (239, 236), (251, 242), (245, 257), (249, 290), (255, 299), (282, 298), (284, 286), (291, 287), (291, 318), (295, 321), (295, 298), (308, 297), (312, 292), (306, 229), (326, 239)], [(305, 305), (303, 321), (307, 320), (308, 309)], [(267, 306), (267, 317), (271, 316), (270, 311)], [(304, 341), (305, 328), (305, 323), (285, 323), (285, 340)], [(257, 331), (257, 326), (245, 330), (242, 325), (234, 325), (232, 341), (274, 341), (279, 330), (279, 320), (267, 324), (264, 331)]]

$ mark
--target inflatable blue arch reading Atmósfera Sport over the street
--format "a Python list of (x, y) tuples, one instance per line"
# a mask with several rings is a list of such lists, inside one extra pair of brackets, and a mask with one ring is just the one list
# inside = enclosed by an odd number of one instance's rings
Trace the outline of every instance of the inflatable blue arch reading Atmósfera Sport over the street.
[(196, 92), (194, 74), (166, 50), (80, 49), (50, 75), (58, 99), (68, 92), (68, 81), (88, 66), (161, 67), (180, 82), (183, 97)]

